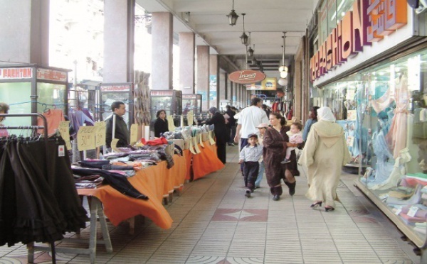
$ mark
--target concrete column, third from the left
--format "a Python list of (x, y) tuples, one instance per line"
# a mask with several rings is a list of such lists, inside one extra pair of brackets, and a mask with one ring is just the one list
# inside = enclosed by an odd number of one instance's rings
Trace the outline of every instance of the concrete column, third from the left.
[(173, 89), (172, 48), (173, 16), (169, 12), (152, 13), (152, 89)]

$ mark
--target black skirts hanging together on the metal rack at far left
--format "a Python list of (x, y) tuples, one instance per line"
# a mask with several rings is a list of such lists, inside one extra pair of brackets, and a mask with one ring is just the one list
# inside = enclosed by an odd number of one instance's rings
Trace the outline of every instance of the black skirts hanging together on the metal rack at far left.
[(49, 141), (48, 155), (43, 140), (0, 142), (0, 246), (58, 241), (65, 231), (85, 226), (67, 153), (60, 158), (68, 165), (57, 162), (56, 142)]

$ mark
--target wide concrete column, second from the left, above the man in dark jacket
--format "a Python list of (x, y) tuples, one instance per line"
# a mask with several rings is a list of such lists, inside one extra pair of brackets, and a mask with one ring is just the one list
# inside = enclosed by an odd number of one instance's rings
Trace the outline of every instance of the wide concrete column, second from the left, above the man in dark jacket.
[(134, 81), (135, 0), (104, 1), (105, 83)]

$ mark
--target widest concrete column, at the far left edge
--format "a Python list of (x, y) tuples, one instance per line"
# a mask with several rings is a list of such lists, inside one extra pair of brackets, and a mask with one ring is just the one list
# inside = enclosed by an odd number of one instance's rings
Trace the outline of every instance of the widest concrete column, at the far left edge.
[[(49, 0), (1, 1), (0, 58), (49, 66)], [(10, 61), (10, 62), (9, 62)]]

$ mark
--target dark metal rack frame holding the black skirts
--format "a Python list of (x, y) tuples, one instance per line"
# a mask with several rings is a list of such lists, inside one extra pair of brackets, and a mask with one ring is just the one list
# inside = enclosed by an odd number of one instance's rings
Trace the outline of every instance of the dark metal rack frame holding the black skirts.
[[(43, 129), (44, 134), (44, 143), (46, 148), (46, 155), (49, 155), (49, 147), (48, 147), (48, 121), (43, 114), (39, 113), (29, 113), (29, 114), (0, 114), (0, 116), (4, 117), (40, 117), (43, 120), (43, 126), (1, 126), (4, 129)], [(46, 158), (46, 168), (49, 168), (49, 158)], [(56, 250), (55, 250), (55, 241), (51, 242), (51, 251), (52, 251), (52, 263), (56, 264)]]

